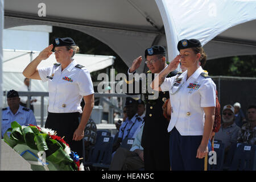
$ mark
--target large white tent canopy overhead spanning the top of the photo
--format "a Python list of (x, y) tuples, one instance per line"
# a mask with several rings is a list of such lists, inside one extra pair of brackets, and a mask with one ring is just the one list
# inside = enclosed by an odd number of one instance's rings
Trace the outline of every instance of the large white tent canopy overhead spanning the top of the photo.
[(168, 46), (172, 59), (183, 38), (200, 39), (208, 59), (256, 54), (255, 0), (45, 0), (45, 17), (38, 15), (41, 2), (5, 1), (5, 28), (73, 28), (107, 44), (128, 66), (153, 44)]

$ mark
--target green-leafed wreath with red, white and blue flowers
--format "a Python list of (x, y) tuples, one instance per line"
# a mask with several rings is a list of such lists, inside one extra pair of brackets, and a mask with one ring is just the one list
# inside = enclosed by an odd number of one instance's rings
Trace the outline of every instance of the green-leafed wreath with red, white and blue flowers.
[[(9, 132), (10, 137), (7, 134)], [(30, 153), (38, 162), (42, 163), (42, 166), (47, 166), (49, 170), (84, 170), (76, 152), (71, 151), (68, 143), (63, 138), (58, 137), (56, 131), (51, 129), (34, 125), (20, 126), (19, 123), (14, 121), (11, 123), (11, 128), (4, 134), (3, 140), (24, 159), (26, 158), (23, 154)], [(44, 153), (45, 161), (37, 155), (40, 152), (41, 154)]]

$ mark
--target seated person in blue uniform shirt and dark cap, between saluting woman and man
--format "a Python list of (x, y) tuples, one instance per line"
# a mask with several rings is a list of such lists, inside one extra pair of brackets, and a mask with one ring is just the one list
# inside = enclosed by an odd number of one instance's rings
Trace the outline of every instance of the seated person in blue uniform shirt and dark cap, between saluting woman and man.
[(117, 150), (123, 139), (132, 138), (138, 127), (142, 125), (142, 119), (138, 116), (138, 104), (137, 101), (131, 97), (126, 98), (125, 102), (127, 118), (122, 123), (117, 141), (113, 144), (113, 152)]

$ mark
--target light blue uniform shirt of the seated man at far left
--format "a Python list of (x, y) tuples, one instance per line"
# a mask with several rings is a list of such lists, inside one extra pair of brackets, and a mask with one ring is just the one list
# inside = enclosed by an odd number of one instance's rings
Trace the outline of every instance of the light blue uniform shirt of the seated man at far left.
[(18, 111), (13, 114), (10, 107), (6, 107), (2, 109), (2, 136), (11, 127), (13, 121), (18, 122), (21, 126), (27, 124), (36, 126), (36, 119), (32, 110), (19, 105)]

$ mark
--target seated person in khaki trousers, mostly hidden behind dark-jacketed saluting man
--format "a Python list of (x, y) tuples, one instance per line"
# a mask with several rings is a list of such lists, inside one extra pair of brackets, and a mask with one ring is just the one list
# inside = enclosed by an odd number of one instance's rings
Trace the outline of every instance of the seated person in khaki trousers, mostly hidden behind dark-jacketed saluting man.
[(114, 154), (109, 171), (133, 171), (144, 167), (143, 147), (141, 146), (142, 124), (130, 150), (119, 147)]

